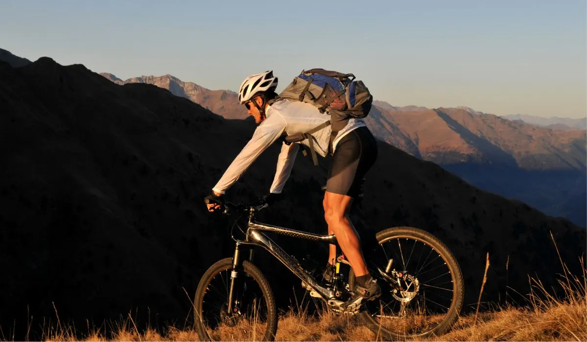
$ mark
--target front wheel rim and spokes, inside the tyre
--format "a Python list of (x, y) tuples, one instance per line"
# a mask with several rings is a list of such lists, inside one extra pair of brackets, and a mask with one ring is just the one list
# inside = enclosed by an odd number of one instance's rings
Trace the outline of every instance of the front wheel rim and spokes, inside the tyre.
[(201, 323), (211, 340), (264, 340), (268, 306), (257, 280), (241, 272), (235, 284), (233, 313), (228, 314), (231, 267), (216, 273), (204, 292), (200, 306)]

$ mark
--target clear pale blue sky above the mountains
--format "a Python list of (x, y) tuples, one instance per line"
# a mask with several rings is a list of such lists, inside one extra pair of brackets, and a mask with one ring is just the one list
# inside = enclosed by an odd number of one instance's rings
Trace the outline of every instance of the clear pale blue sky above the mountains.
[(353, 72), (394, 106), (585, 117), (587, 5), (561, 1), (0, 1), (0, 48), (236, 90)]

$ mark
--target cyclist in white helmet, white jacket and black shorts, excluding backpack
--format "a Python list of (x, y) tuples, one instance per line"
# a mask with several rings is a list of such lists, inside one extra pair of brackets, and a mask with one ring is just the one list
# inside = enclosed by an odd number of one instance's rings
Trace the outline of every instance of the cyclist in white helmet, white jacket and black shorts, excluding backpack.
[[(220, 209), (225, 191), (234, 184), (247, 168), (269, 145), (278, 140), (283, 133), (288, 135), (304, 133), (325, 123), (329, 116), (320, 113), (312, 104), (301, 101), (281, 99), (269, 104), (277, 97), (275, 89), (278, 77), (272, 70), (248, 76), (239, 87), (238, 100), (247, 107), (248, 114), (255, 118), (258, 127), (251, 140), (232, 161), (224, 175), (206, 197), (208, 211)], [(326, 157), (329, 153), (332, 127), (326, 126), (312, 134), (316, 153)], [(269, 189), (266, 201), (271, 204), (281, 194), (285, 181), (294, 165), (299, 143), (283, 144), (279, 153), (275, 178)], [(353, 198), (359, 195), (363, 177), (377, 158), (377, 143), (369, 128), (361, 118), (350, 118), (345, 127), (338, 131), (332, 141), (332, 162), (329, 165), (326, 193), (323, 207), (328, 233), (335, 234), (342, 252), (345, 253), (356, 276), (355, 294), (348, 300), (347, 307), (361, 300), (373, 300), (380, 296), (381, 289), (365, 265), (360, 248), (359, 235), (349, 220), (349, 210)], [(330, 245), (329, 262), (324, 272), (329, 281), (334, 272), (336, 246)], [(359, 300), (361, 299), (361, 300)]]

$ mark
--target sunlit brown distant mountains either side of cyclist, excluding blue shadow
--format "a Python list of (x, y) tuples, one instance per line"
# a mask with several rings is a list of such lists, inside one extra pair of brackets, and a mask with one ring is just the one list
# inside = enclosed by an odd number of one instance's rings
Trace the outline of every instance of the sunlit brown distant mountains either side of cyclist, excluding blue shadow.
[[(117, 84), (154, 84), (225, 118), (247, 117), (244, 107), (239, 106), (237, 94), (228, 90), (205, 89), (171, 75), (132, 77), (124, 81), (110, 73), (100, 75)], [(375, 110), (366, 120), (375, 135), (424, 160), (438, 164), (467, 161), (515, 164), (529, 170), (571, 168), (584, 172), (586, 168), (584, 130), (563, 133), (536, 128), (468, 107), (394, 107), (379, 100), (373, 104)], [(468, 137), (461, 134), (464, 131), (470, 133)], [(501, 150), (505, 153), (500, 153)]]

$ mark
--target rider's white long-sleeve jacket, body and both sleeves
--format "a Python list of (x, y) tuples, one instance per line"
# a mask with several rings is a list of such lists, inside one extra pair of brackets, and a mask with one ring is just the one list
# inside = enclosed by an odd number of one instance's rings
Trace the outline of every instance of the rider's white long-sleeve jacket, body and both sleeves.
[[(273, 144), (282, 133), (288, 136), (298, 133), (305, 133), (312, 128), (329, 120), (330, 116), (322, 114), (320, 111), (309, 103), (303, 103), (295, 100), (280, 100), (268, 107), (265, 112), (265, 120), (259, 124), (251, 140), (242, 148), (242, 151), (232, 161), (228, 169), (220, 178), (220, 181), (213, 191), (224, 194), (225, 191), (234, 184), (242, 174), (247, 171), (249, 166), (265, 151), (267, 147)], [(333, 141), (333, 150), (336, 150), (338, 141), (355, 128), (365, 126), (365, 122), (360, 118), (350, 118), (348, 124), (339, 131)], [(328, 154), (328, 144), (330, 143), (330, 133), (332, 126), (322, 128), (322, 130), (313, 133), (315, 137), (314, 149), (316, 153), (326, 157)], [(296, 154), (299, 150), (298, 144), (309, 146), (308, 140), (305, 139), (299, 143), (290, 145), (283, 144), (281, 153), (277, 160), (275, 178), (269, 192), (274, 194), (281, 193), (285, 181), (291, 174)]]

